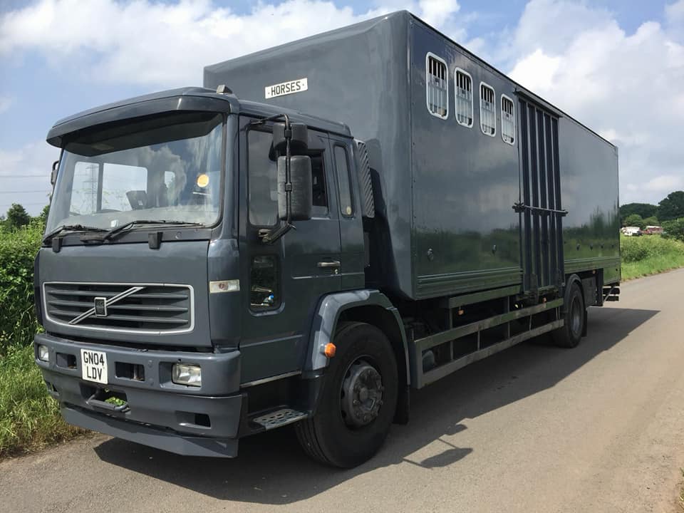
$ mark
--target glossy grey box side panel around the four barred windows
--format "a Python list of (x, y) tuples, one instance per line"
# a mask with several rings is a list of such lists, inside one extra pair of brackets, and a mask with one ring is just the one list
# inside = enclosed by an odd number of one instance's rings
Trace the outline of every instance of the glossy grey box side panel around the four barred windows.
[[(514, 99), (513, 85), (423, 24), (415, 22), (412, 34), (416, 297), (521, 284), (519, 214), (512, 209), (519, 201), (518, 142), (501, 134), (501, 95)], [(428, 53), (447, 64), (446, 119), (427, 108)], [(470, 128), (456, 119), (456, 68), (472, 77)], [(481, 82), (495, 91), (493, 137), (480, 128)]]

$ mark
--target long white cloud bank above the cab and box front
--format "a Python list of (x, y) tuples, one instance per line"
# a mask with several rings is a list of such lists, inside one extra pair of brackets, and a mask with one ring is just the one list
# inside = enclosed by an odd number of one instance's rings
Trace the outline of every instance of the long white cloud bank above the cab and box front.
[(211, 0), (41, 0), (1, 18), (0, 58), (37, 50), (86, 78), (173, 87), (197, 84), (209, 63), (397, 9), (410, 9), (439, 28), (459, 28), (453, 17), (457, 0), (388, 4), (356, 15), (329, 0), (286, 0), (259, 2), (249, 14), (237, 15)]

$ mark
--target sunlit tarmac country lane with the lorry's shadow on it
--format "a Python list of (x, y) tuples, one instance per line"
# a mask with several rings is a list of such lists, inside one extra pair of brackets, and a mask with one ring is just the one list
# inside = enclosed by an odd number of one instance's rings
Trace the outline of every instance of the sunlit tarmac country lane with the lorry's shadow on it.
[(572, 350), (522, 344), (412, 396), (354, 470), (294, 432), (235, 460), (103, 435), (0, 463), (10, 512), (675, 512), (684, 467), (684, 269), (623, 284)]

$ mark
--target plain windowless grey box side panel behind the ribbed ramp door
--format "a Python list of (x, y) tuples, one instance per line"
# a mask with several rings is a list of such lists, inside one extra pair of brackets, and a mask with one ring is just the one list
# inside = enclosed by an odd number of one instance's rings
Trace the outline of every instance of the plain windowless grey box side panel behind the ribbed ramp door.
[(620, 279), (618, 152), (573, 120), (559, 120), (561, 197), (566, 274), (603, 269)]

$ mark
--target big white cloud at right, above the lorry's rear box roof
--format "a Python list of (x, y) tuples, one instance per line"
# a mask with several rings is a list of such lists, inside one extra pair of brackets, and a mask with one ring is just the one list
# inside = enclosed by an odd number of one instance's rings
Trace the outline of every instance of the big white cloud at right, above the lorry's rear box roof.
[[(668, 6), (669, 26), (683, 13), (684, 0)], [(628, 34), (604, 9), (532, 0), (503, 58), (512, 78), (618, 145), (621, 202), (684, 187), (684, 46), (671, 30), (646, 21)]]

